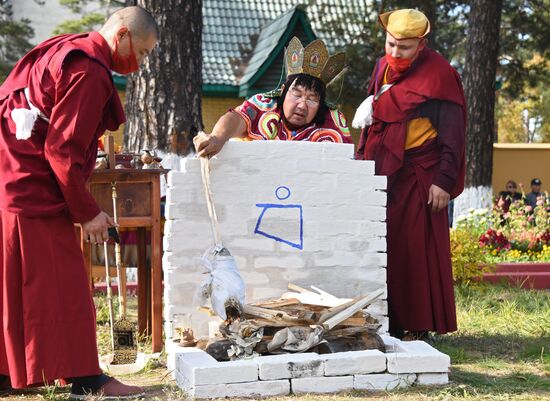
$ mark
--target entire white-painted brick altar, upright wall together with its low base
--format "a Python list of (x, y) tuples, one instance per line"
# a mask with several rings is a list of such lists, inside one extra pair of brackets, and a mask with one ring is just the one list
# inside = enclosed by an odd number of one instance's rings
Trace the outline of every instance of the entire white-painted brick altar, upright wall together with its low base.
[[(229, 142), (211, 160), (211, 183), (224, 245), (246, 283), (247, 302), (279, 297), (289, 283), (342, 298), (386, 289), (386, 178), (353, 146)], [(168, 367), (196, 398), (276, 396), (444, 384), (449, 357), (423, 342), (383, 336), (387, 353), (355, 351), (262, 356), (217, 362), (173, 340), (173, 323), (191, 317), (196, 336), (208, 317), (194, 296), (205, 278), (196, 258), (213, 245), (200, 162), (168, 177), (164, 236), (164, 314)], [(367, 309), (387, 332), (387, 303)]]

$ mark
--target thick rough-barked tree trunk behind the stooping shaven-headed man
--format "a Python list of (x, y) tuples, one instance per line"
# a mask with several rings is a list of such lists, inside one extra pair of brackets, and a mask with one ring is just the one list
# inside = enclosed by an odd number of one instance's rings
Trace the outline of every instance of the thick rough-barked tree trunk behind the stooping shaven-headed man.
[(159, 41), (139, 72), (128, 76), (127, 151), (185, 155), (202, 130), (202, 0), (137, 0), (159, 28)]

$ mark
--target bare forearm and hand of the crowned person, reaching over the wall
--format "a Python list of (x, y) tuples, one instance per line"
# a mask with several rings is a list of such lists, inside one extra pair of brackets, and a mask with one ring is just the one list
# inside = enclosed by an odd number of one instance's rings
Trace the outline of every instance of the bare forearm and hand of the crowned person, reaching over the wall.
[(222, 150), (230, 138), (244, 138), (246, 122), (237, 113), (227, 112), (216, 123), (211, 134), (199, 133), (194, 139), (197, 155), (212, 157)]

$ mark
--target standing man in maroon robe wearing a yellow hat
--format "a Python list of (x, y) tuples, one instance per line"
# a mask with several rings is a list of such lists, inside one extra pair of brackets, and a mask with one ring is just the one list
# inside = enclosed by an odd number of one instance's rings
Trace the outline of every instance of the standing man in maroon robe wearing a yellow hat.
[(356, 157), (388, 176), (390, 333), (423, 339), (457, 329), (447, 205), (464, 184), (466, 107), (458, 74), (426, 47), (424, 14), (397, 10), (380, 22), (386, 56), (354, 121), (364, 125)]

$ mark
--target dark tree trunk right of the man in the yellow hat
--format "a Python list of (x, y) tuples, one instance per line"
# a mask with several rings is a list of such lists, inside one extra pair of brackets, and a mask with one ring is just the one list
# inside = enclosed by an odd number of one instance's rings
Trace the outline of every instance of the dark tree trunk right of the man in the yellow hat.
[(471, 0), (464, 68), (468, 103), (466, 187), (490, 187), (495, 140), (495, 77), (502, 0)]

